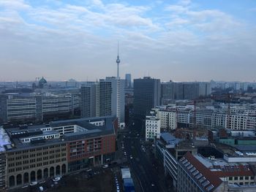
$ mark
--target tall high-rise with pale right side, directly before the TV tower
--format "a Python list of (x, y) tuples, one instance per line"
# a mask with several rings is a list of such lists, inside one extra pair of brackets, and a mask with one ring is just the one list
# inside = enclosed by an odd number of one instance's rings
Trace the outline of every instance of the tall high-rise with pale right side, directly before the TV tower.
[(99, 80), (99, 115), (116, 115), (120, 126), (124, 126), (124, 83), (116, 77)]

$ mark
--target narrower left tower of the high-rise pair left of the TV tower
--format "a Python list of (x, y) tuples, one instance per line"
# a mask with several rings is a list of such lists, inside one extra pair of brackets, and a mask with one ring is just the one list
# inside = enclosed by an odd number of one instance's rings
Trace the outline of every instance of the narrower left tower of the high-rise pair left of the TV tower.
[(99, 116), (99, 82), (81, 85), (81, 117)]

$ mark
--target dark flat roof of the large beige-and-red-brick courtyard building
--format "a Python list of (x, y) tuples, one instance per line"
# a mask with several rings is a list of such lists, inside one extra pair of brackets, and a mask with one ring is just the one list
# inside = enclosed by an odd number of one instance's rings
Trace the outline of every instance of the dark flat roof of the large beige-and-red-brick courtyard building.
[[(72, 141), (76, 139), (84, 139), (84, 138), (91, 138), (91, 137), (100, 137), (109, 134), (115, 134), (115, 128), (113, 126), (113, 120), (116, 118), (114, 116), (105, 116), (100, 118), (80, 118), (80, 119), (73, 119), (73, 120), (58, 120), (50, 122), (49, 125), (39, 125), (39, 126), (27, 126), (26, 128), (20, 129), (20, 127), (16, 128), (8, 128), (7, 136), (10, 137), (10, 140), (13, 145), (5, 147), (7, 150), (20, 150), (24, 148), (33, 148), (36, 145), (43, 147), (45, 145), (51, 145), (56, 143), (65, 143), (67, 141)], [(104, 120), (104, 126), (95, 126), (91, 124), (91, 121), (98, 121)], [(45, 139), (45, 142), (39, 144), (32, 144), (31, 142), (23, 143), (20, 142), (20, 138), (28, 138), (28, 137), (38, 137), (44, 136), (47, 134), (59, 134), (59, 131), (47, 130), (42, 131), (42, 128), (55, 128), (60, 126), (80, 126), (86, 128), (86, 131), (79, 131), (74, 133), (64, 134), (63, 137), (54, 138), (54, 139)], [(0, 139), (1, 141), (1, 139)]]

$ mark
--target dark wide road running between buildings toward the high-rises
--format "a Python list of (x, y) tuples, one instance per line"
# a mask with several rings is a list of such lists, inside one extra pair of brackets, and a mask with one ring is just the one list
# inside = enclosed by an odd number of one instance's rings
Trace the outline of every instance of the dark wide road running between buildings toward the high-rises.
[[(129, 134), (124, 139), (124, 150), (127, 153), (127, 160), (132, 172), (137, 177), (141, 191), (167, 191), (165, 186), (159, 183), (159, 175), (155, 169), (148, 151), (142, 150), (141, 143), (145, 140), (142, 134), (143, 124), (140, 120), (134, 120), (134, 126), (129, 126)], [(138, 136), (139, 134), (139, 136)], [(132, 155), (132, 158), (130, 158)]]

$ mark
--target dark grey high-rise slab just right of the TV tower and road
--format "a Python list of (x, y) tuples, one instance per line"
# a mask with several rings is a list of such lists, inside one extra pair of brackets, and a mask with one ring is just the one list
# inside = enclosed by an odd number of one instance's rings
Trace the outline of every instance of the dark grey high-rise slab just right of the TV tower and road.
[(137, 118), (146, 118), (151, 108), (160, 104), (160, 80), (144, 77), (134, 80), (134, 112)]

